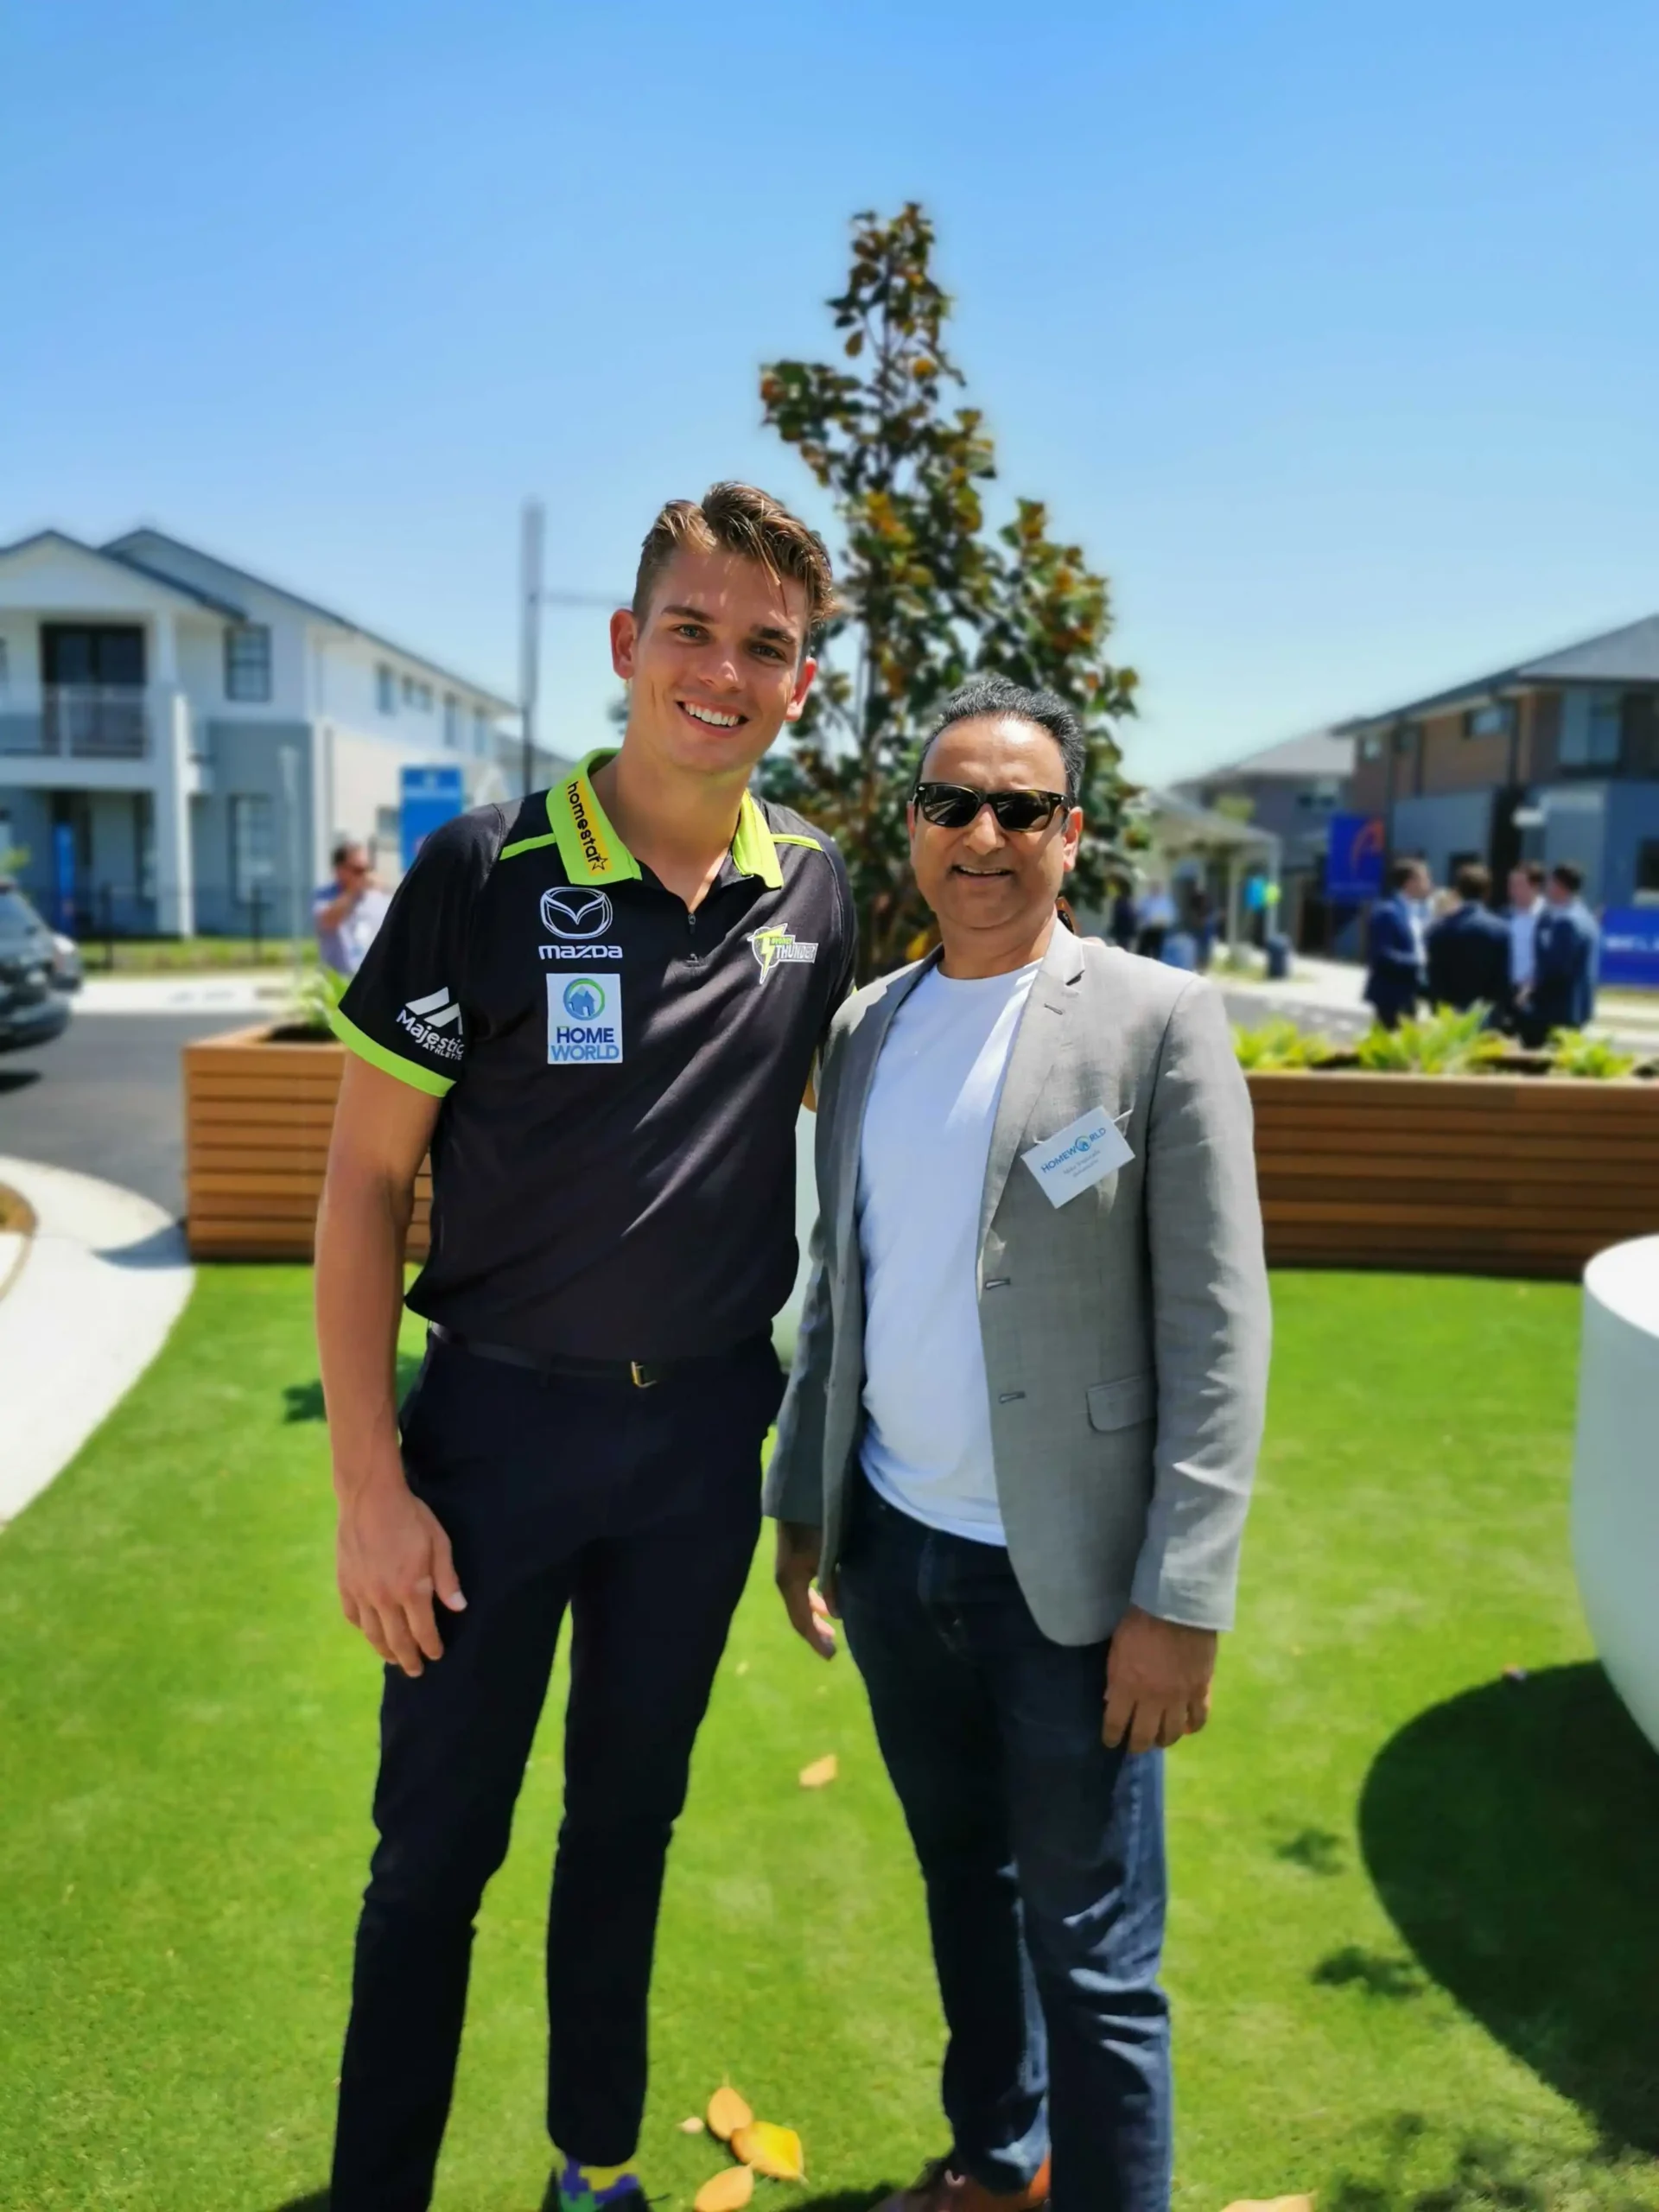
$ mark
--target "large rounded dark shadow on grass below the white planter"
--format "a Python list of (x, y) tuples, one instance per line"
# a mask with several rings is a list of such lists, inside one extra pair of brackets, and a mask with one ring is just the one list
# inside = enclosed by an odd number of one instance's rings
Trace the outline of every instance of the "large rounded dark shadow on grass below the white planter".
[(1425, 1971), (1610, 2150), (1659, 2150), (1655, 1836), (1659, 1756), (1599, 1666), (1418, 1714), (1360, 1794), (1367, 1871)]

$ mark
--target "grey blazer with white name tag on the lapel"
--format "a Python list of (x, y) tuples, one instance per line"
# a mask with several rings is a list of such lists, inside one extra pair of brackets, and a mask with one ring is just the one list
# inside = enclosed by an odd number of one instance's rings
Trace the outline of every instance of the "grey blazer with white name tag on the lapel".
[[(818, 1082), (814, 1265), (765, 1509), (823, 1524), (825, 1577), (863, 1431), (865, 1099), (927, 967), (841, 1006)], [(1020, 1152), (1102, 1106), (1135, 1157), (1055, 1208)], [(978, 1296), (998, 1502), (1044, 1635), (1095, 1644), (1130, 1601), (1230, 1628), (1272, 1321), (1250, 1093), (1210, 984), (1055, 929), (991, 1133)]]

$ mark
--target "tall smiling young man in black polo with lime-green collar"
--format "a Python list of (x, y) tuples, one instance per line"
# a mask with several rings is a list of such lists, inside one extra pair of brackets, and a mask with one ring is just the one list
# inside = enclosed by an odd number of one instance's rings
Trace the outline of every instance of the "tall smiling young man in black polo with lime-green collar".
[[(664, 1858), (783, 1394), (794, 1119), (854, 960), (838, 854), (748, 790), (830, 595), (765, 493), (666, 507), (611, 619), (619, 752), (427, 838), (336, 1020), (316, 1316), (341, 1604), (387, 1677), (334, 2212), (431, 2199), (473, 1916), (566, 1610), (546, 2203), (644, 2212)], [(398, 1416), (427, 1150), (431, 1334)]]

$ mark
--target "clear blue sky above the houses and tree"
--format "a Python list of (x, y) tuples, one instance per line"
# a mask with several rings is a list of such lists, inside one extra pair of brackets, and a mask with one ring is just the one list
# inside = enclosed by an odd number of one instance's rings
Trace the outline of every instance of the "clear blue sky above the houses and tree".
[[(1650, 0), (13, 0), (0, 540), (155, 520), (513, 688), (752, 476), (920, 197), (993, 495), (1115, 584), (1166, 781), (1659, 608)], [(604, 734), (551, 613), (544, 730)]]

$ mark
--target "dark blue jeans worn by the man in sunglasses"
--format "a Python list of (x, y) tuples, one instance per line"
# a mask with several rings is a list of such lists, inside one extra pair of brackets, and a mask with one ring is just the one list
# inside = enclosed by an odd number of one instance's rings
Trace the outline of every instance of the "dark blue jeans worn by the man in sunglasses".
[(1106, 1646), (867, 1484), (838, 1601), (927, 1885), (953, 2166), (1013, 2194), (1051, 2148), (1053, 2212), (1166, 2212), (1164, 1754), (1102, 1743)]

